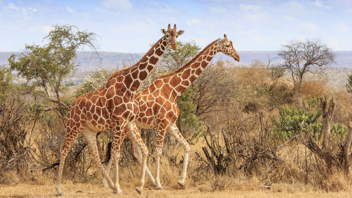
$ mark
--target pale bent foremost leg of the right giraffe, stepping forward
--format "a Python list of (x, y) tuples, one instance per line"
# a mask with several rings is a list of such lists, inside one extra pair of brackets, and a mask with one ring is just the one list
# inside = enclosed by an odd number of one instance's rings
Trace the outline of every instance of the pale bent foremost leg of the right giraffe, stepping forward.
[(175, 123), (170, 124), (170, 126), (168, 128), (168, 132), (170, 133), (170, 135), (172, 135), (177, 140), (178, 143), (180, 143), (180, 145), (182, 145), (182, 147), (184, 149), (181, 180), (177, 182), (177, 184), (180, 185), (182, 189), (184, 189), (184, 181), (186, 180), (186, 174), (187, 174), (188, 154), (191, 149), (189, 147), (188, 142), (181, 135), (181, 133), (178, 130)]

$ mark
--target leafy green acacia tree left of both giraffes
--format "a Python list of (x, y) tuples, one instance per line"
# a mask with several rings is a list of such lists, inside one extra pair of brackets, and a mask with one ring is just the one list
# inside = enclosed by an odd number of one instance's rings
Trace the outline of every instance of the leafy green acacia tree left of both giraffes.
[(69, 102), (62, 100), (61, 92), (64, 87), (62, 81), (80, 65), (76, 51), (88, 47), (97, 53), (97, 37), (96, 34), (80, 31), (75, 26), (54, 25), (53, 30), (43, 38), (43, 42), (47, 44), (25, 45), (23, 53), (18, 56), (12, 54), (8, 58), (10, 69), (25, 78), (27, 80), (25, 84), (31, 90), (43, 88), (46, 101), (57, 105), (54, 108), (47, 108), (64, 116)]

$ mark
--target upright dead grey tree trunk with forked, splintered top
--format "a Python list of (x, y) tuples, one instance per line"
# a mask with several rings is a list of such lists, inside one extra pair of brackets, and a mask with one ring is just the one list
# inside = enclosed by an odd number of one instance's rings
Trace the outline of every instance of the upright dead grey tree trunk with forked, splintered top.
[(320, 106), (323, 117), (323, 145), (322, 149), (329, 149), (330, 145), (330, 123), (332, 119), (332, 115), (334, 113), (335, 103), (332, 101), (333, 96), (329, 101), (329, 107), (327, 107), (327, 99), (326, 95), (324, 97), (320, 97)]

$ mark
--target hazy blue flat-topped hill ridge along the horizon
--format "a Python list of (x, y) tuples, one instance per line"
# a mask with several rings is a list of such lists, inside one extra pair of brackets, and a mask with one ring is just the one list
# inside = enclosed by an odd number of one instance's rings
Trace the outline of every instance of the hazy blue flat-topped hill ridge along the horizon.
[[(20, 52), (0, 52), (0, 65), (7, 65), (7, 59), (14, 53), (18, 55)], [(268, 63), (270, 59), (277, 57), (277, 51), (239, 51), (240, 65), (251, 64), (253, 60), (258, 59), (264, 63)], [(352, 51), (335, 51), (337, 64), (336, 68), (352, 69)], [(123, 63), (131, 65), (138, 62), (144, 53), (119, 53), (119, 52), (99, 52), (99, 57), (92, 52), (84, 51), (77, 52), (78, 61), (81, 63), (83, 71), (95, 70), (98, 67), (118, 67), (121, 68)], [(223, 53), (218, 53), (215, 60), (222, 58), (224, 60), (233, 60), (233, 58), (225, 56)], [(234, 61), (234, 60), (233, 60)], [(278, 63), (280, 59), (272, 60), (272, 63)], [(237, 63), (237, 62), (236, 62)]]

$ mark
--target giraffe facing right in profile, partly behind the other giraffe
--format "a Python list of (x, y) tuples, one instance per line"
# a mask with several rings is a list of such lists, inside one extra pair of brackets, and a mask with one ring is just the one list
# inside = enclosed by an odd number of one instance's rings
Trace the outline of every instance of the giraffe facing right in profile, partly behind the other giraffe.
[[(155, 180), (149, 169), (146, 168), (146, 173), (152, 184), (156, 186), (156, 189), (163, 190), (160, 183), (159, 162), (166, 131), (172, 135), (184, 149), (181, 180), (177, 182), (177, 184), (184, 189), (190, 147), (176, 126), (176, 120), (180, 114), (176, 101), (187, 87), (201, 74), (216, 53), (222, 52), (239, 62), (240, 58), (233, 48), (232, 41), (227, 39), (226, 34), (224, 34), (224, 37), (224, 39), (219, 38), (214, 40), (186, 65), (169, 74), (159, 76), (149, 87), (134, 95), (134, 103), (137, 106), (136, 109), (138, 109), (136, 119), (134, 120), (136, 126), (144, 129), (156, 128)], [(130, 135), (128, 135), (128, 137), (133, 138)], [(133, 154), (138, 161), (141, 162), (141, 151), (136, 147), (136, 142), (131, 142)], [(107, 168), (107, 170), (109, 169)]]

